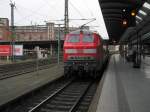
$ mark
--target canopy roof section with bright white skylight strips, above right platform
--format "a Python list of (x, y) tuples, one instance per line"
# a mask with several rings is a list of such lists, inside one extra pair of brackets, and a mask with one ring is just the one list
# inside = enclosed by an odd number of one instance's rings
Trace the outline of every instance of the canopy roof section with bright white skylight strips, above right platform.
[(146, 0), (137, 11), (135, 20), (136, 26), (127, 28), (120, 39), (121, 44), (129, 41), (134, 44), (137, 42), (137, 36), (141, 38), (142, 43), (150, 43), (150, 0)]

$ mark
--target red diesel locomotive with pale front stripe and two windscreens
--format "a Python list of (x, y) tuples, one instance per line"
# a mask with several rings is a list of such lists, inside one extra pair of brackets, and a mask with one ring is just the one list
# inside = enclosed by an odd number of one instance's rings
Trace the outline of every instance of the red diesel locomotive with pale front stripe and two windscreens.
[(63, 49), (64, 75), (85, 75), (83, 72), (87, 72), (96, 77), (105, 62), (102, 38), (89, 30), (70, 32)]

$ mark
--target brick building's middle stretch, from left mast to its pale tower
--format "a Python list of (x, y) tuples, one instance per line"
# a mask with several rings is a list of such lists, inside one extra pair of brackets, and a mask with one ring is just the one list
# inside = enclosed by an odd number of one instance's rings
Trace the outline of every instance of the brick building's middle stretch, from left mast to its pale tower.
[(16, 41), (55, 40), (54, 23), (36, 26), (16, 26)]

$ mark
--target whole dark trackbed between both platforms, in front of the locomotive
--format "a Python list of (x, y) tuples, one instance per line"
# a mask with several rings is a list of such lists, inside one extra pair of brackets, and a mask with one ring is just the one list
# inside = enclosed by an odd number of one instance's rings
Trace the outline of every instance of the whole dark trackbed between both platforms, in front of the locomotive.
[(3, 106), (2, 112), (86, 112), (97, 88), (92, 80), (63, 79)]

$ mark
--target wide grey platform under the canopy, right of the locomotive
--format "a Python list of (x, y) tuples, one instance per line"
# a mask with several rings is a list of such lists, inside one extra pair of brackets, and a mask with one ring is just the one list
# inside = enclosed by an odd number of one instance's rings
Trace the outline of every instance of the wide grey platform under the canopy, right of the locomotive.
[(96, 112), (149, 112), (149, 62), (150, 57), (145, 57), (141, 68), (136, 69), (119, 54), (112, 55), (97, 91)]

